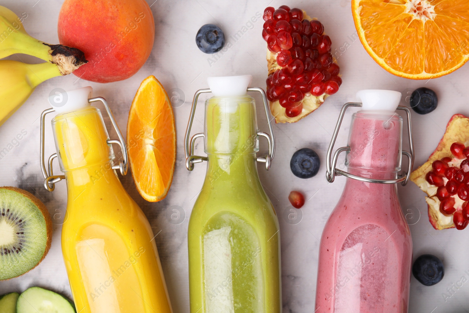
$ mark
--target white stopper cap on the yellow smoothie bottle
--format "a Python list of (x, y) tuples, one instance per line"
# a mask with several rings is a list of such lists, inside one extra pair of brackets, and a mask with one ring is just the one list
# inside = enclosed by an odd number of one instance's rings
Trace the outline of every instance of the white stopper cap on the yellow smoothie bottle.
[(89, 106), (88, 99), (92, 97), (92, 93), (93, 88), (91, 86), (68, 92), (57, 88), (54, 93), (49, 95), (49, 103), (57, 114), (64, 114)]

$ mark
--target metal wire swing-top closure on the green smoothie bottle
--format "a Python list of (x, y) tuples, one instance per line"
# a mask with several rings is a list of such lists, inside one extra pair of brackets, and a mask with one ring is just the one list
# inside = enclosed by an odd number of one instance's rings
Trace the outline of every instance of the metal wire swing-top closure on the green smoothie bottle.
[[(264, 89), (259, 88), (259, 87), (248, 87), (247, 91), (259, 92), (262, 95), (262, 101), (264, 102), (265, 116), (267, 117), (267, 124), (269, 125), (270, 136), (269, 134), (260, 130), (257, 131), (257, 136), (262, 136), (262, 137), (265, 137), (265, 139), (267, 139), (267, 144), (269, 145), (269, 153), (266, 154), (265, 157), (263, 158), (257, 157), (257, 162), (265, 163), (265, 169), (269, 170), (272, 164), (273, 156), (275, 154), (275, 135), (273, 134), (272, 118), (270, 116), (269, 103), (267, 101), (267, 96), (265, 95)], [(192, 122), (194, 121), (194, 114), (196, 112), (197, 99), (199, 98), (199, 95), (201, 93), (208, 93), (208, 92), (212, 92), (210, 88), (197, 90), (196, 94), (194, 95), (194, 100), (192, 101), (192, 107), (190, 109), (189, 122), (187, 124), (186, 134), (184, 136), (184, 142), (185, 142), (184, 154), (186, 156), (186, 168), (189, 171), (194, 169), (195, 163), (200, 163), (200, 162), (207, 160), (206, 156), (194, 155), (195, 141), (199, 137), (205, 137), (204, 133), (197, 133), (194, 136), (190, 137), (190, 129), (192, 128)]]

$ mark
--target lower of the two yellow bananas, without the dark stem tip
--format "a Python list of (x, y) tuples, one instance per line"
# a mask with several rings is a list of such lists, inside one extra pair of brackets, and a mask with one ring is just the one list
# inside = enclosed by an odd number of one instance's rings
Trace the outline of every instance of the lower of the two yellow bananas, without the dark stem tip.
[(0, 125), (21, 107), (38, 84), (61, 75), (59, 67), (49, 62), (0, 60)]

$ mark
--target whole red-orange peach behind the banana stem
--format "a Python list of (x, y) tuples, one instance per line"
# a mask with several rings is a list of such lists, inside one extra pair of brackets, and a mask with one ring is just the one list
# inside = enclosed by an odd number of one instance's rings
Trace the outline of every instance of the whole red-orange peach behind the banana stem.
[(144, 65), (155, 23), (145, 0), (65, 0), (58, 32), (61, 44), (82, 50), (88, 60), (73, 73), (109, 83), (129, 78)]

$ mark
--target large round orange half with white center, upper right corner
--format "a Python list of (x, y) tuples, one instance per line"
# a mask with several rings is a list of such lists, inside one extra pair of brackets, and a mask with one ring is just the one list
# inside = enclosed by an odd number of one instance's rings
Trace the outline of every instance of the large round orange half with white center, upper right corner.
[(469, 59), (468, 0), (352, 0), (366, 51), (388, 72), (436, 78)]

